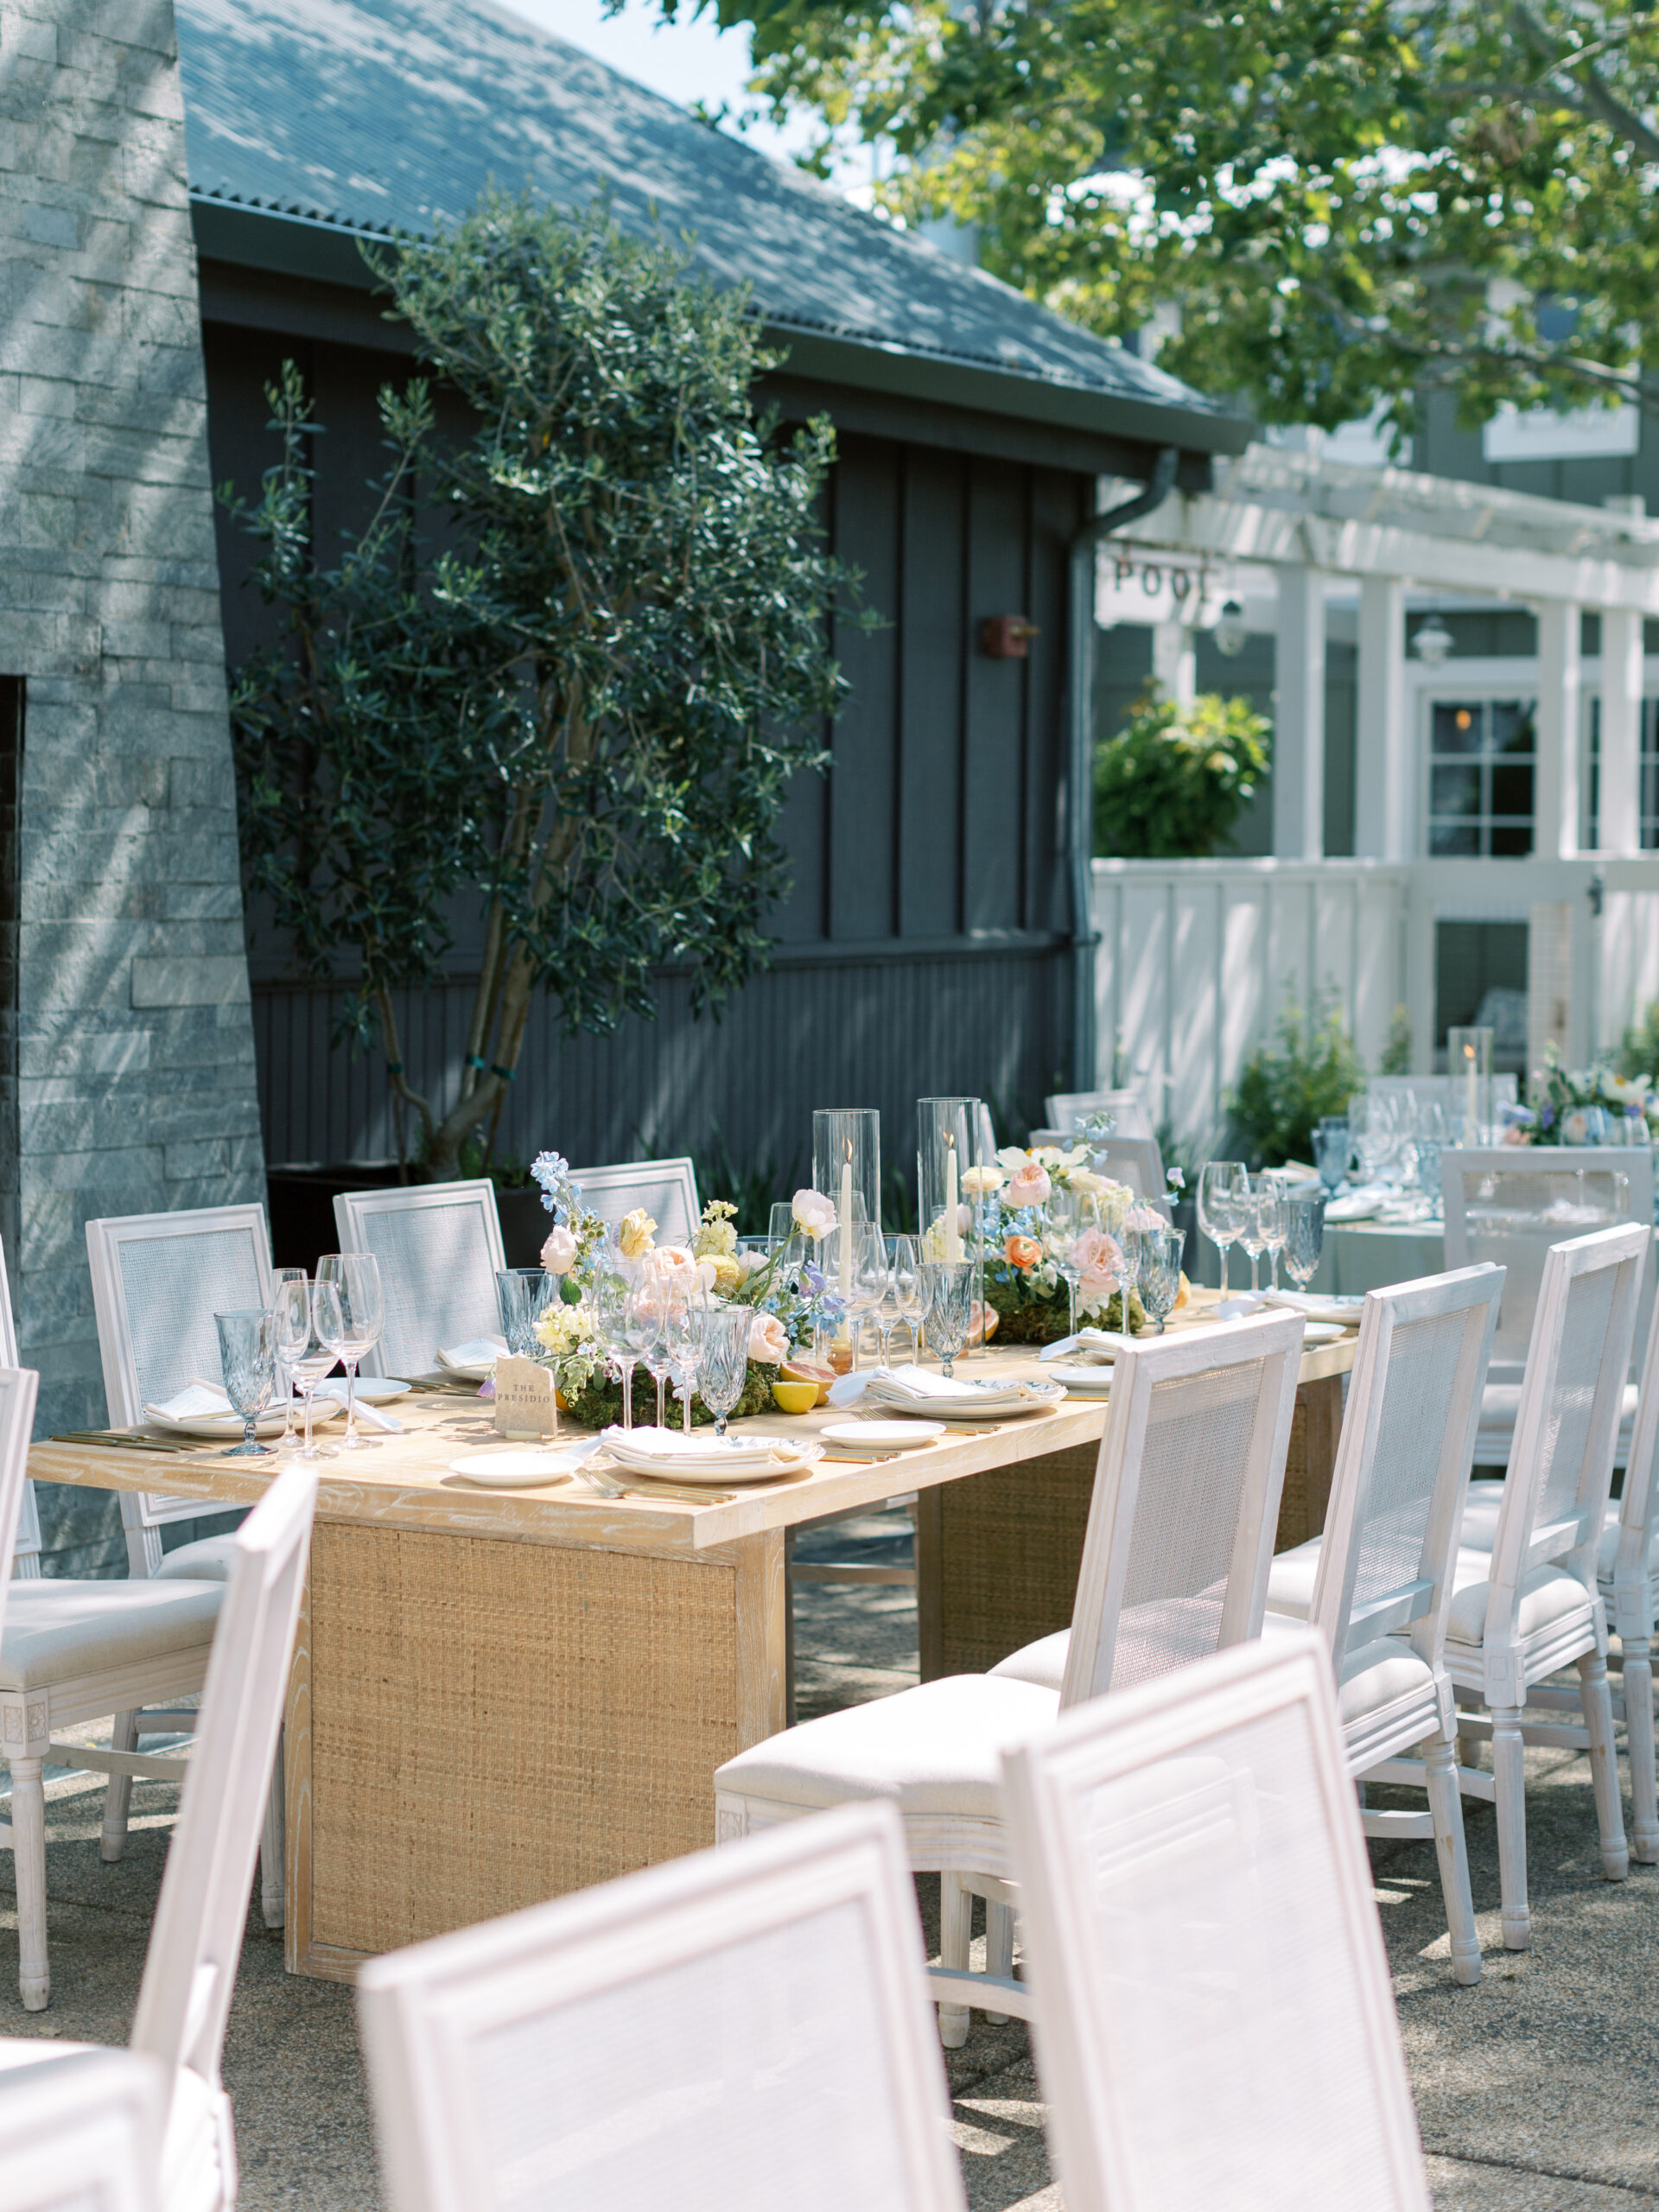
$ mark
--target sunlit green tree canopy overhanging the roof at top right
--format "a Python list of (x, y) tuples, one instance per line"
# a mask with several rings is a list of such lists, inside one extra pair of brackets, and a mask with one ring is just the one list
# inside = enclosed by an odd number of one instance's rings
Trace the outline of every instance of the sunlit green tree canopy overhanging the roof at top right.
[[(692, 0), (657, 0), (661, 13)], [(1601, 0), (699, 0), (900, 219), (1263, 420), (1659, 392), (1659, 15)]]

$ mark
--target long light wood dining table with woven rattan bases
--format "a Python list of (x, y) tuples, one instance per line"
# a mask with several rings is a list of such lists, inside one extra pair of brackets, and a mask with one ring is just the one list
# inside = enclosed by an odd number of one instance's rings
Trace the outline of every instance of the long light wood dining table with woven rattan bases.
[[(1177, 1327), (1208, 1323), (1197, 1292)], [(1303, 1354), (1279, 1548), (1325, 1517), (1354, 1336)], [(1040, 1376), (991, 1352), (964, 1376)], [(398, 1436), (319, 1464), (285, 1725), (285, 1953), (347, 1980), (378, 1953), (714, 1840), (712, 1774), (785, 1725), (790, 1531), (916, 1498), (922, 1677), (1064, 1628), (1102, 1398), (821, 1460), (730, 1502), (597, 1495), (575, 1473), (476, 1489), (513, 1447), (471, 1396), (411, 1394)], [(734, 1433), (814, 1438), (834, 1413)], [(571, 1425), (566, 1422), (566, 1433)], [(580, 1431), (577, 1431), (580, 1433)], [(252, 1504), (281, 1462), (40, 1442), (40, 1482)], [(628, 1480), (617, 1473), (617, 1480)]]

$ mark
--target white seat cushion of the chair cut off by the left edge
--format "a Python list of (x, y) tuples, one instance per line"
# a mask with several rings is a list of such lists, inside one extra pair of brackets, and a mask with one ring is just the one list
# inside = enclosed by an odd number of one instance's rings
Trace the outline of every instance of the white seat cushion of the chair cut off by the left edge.
[(0, 1690), (46, 1690), (212, 1644), (223, 1582), (13, 1582)]

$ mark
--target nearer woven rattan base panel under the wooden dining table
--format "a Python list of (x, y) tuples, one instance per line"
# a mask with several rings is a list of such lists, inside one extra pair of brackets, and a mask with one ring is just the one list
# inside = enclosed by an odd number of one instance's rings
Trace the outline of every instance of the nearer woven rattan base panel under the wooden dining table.
[(712, 1843), (714, 1767), (783, 1725), (781, 1586), (779, 1537), (672, 1559), (321, 1522), (290, 1966), (343, 1975)]

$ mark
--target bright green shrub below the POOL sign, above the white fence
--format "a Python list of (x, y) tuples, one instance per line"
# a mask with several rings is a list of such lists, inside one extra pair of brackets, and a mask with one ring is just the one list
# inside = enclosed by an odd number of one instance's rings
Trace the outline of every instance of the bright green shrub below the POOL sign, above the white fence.
[(1267, 768), (1272, 723), (1248, 699), (1148, 692), (1095, 748), (1095, 852), (1192, 860), (1223, 845)]

